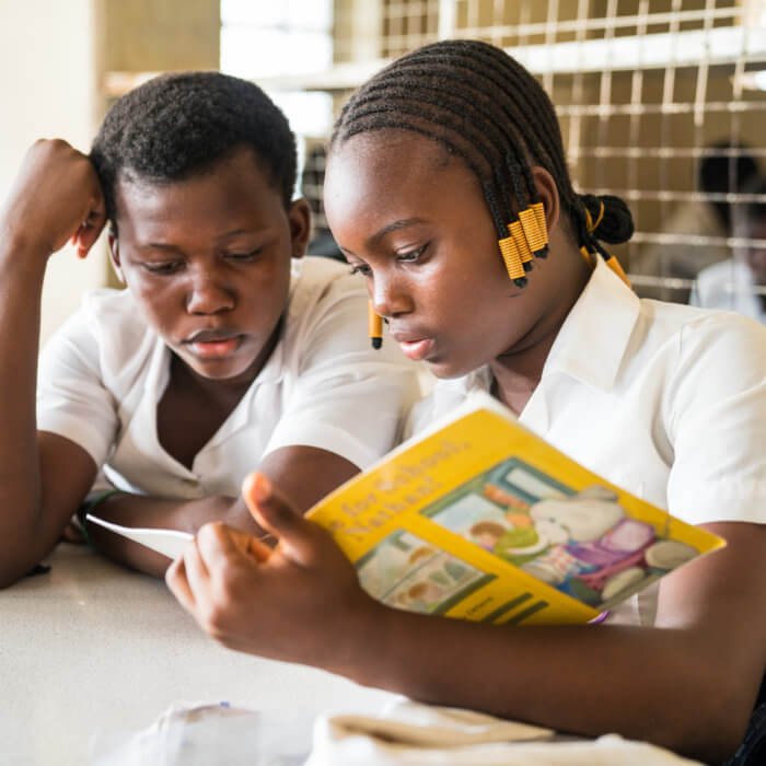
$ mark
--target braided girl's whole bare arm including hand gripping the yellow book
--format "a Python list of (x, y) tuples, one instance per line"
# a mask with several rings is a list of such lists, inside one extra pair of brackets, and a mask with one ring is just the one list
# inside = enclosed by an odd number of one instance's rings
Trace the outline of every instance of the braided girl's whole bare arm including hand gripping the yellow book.
[[(727, 548), (665, 577), (655, 627), (511, 627), (374, 601), (325, 530), (276, 494), (260, 564), (206, 526), (166, 580), (225, 646), (301, 662), (427, 703), (581, 735), (616, 732), (722, 761), (742, 741), (766, 665), (766, 526), (708, 524)], [(256, 608), (265, 618), (253, 620)], [(312, 630), (300, 630), (311, 624)]]

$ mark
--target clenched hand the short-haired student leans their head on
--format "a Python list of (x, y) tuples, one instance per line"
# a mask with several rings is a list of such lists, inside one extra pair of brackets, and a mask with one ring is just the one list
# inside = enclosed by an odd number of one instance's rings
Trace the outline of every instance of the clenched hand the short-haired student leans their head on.
[(45, 258), (68, 240), (84, 258), (106, 223), (93, 164), (66, 141), (36, 141), (24, 156), (0, 223), (12, 240)]

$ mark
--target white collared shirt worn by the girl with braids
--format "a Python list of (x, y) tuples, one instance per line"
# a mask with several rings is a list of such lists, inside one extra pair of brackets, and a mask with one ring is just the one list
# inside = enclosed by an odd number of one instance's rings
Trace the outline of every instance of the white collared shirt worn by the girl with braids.
[[(488, 368), (439, 381), (408, 430), (490, 384)], [(688, 523), (766, 522), (766, 328), (753, 320), (640, 300), (600, 258), (519, 420)]]

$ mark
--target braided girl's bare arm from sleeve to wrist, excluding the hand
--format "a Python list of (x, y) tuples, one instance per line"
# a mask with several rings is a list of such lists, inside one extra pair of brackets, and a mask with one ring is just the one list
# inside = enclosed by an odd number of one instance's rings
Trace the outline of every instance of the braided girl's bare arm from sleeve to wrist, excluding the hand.
[(495, 627), (375, 605), (374, 627), (334, 670), (428, 703), (722, 761), (766, 665), (766, 527), (707, 526), (728, 547), (663, 580), (653, 628)]

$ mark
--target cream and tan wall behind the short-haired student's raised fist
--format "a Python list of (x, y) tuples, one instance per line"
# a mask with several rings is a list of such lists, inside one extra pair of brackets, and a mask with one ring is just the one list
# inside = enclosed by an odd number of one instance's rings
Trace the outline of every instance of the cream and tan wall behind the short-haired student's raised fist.
[[(0, 199), (35, 139), (88, 151), (107, 70), (216, 69), (219, 40), (219, 0), (0, 0)], [(103, 237), (84, 262), (70, 247), (54, 255), (42, 339), (108, 274)]]

